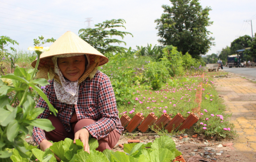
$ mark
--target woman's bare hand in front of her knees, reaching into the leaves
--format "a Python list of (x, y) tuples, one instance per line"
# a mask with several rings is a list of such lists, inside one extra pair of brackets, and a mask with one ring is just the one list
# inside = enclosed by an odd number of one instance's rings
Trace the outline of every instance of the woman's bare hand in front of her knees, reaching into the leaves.
[(80, 129), (75, 133), (74, 144), (76, 143), (76, 139), (80, 139), (83, 142), (84, 151), (90, 153), (89, 147), (89, 132), (86, 128)]

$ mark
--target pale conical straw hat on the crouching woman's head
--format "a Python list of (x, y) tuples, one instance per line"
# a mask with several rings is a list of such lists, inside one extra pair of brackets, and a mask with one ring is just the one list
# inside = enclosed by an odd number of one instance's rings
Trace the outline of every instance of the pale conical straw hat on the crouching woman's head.
[[(100, 56), (99, 66), (108, 62), (108, 58), (97, 51), (94, 47), (90, 46), (86, 41), (82, 40), (79, 36), (71, 31), (67, 31), (60, 36), (51, 46), (50, 50), (44, 51), (40, 55), (40, 62), (38, 69), (44, 65), (50, 65), (54, 69), (52, 56), (62, 54), (89, 54), (90, 62), (94, 62), (96, 56)], [(36, 60), (32, 62), (32, 67), (35, 67)]]

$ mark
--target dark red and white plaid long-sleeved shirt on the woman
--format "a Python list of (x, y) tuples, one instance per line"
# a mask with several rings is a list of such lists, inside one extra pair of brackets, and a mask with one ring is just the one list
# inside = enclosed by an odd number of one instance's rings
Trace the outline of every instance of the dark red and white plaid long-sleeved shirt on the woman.
[[(76, 105), (69, 105), (58, 101), (53, 80), (48, 82), (50, 85), (45, 86), (44, 93), (47, 95), (52, 106), (58, 110), (58, 118), (67, 132), (72, 130), (70, 120), (74, 109), (78, 121), (85, 118), (97, 120), (93, 124), (86, 126), (89, 133), (96, 139), (106, 137), (113, 129), (120, 134), (124, 130), (118, 117), (114, 91), (106, 74), (98, 71), (92, 80), (88, 77), (80, 83)], [(36, 107), (45, 108), (45, 111), (38, 118), (48, 118), (50, 111), (44, 99), (40, 98)], [(33, 139), (39, 145), (42, 140), (46, 139), (44, 131), (34, 127)]]

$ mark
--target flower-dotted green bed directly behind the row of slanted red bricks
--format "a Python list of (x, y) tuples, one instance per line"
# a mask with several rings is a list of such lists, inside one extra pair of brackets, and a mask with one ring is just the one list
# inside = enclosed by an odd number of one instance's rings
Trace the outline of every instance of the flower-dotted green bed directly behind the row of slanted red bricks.
[[(184, 82), (184, 78), (187, 80)], [(199, 76), (180, 77), (174, 79), (179, 82), (178, 86), (170, 86), (168, 83), (159, 90), (147, 90), (143, 86), (136, 85), (134, 93), (135, 104), (124, 104), (119, 106), (119, 116), (126, 113), (132, 118), (136, 113), (142, 113), (145, 117), (149, 113), (154, 113), (158, 118), (163, 113), (171, 117), (181, 113), (185, 118), (191, 109), (198, 106), (196, 100), (196, 89), (202, 80)]]

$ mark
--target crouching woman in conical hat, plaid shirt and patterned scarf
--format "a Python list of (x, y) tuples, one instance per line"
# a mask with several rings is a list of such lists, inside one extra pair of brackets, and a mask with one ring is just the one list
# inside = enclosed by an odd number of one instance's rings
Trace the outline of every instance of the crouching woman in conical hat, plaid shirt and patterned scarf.
[[(42, 53), (37, 76), (53, 78), (44, 93), (58, 111), (57, 116), (51, 114), (42, 98), (36, 105), (45, 108), (38, 118), (51, 120), (56, 128), (46, 132), (34, 127), (33, 139), (42, 151), (52, 145), (49, 140), (58, 142), (65, 138), (74, 142), (80, 139), (87, 152), (91, 137), (98, 140), (98, 151), (117, 144), (124, 128), (118, 117), (111, 82), (106, 74), (97, 70), (107, 62), (107, 57), (71, 31), (58, 38), (50, 51)], [(35, 61), (32, 66), (35, 67)]]

